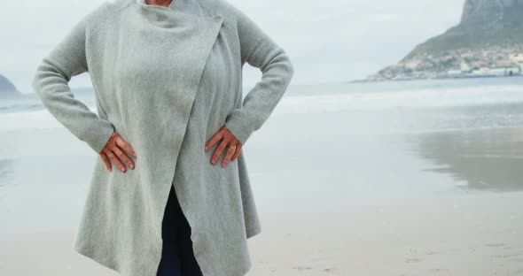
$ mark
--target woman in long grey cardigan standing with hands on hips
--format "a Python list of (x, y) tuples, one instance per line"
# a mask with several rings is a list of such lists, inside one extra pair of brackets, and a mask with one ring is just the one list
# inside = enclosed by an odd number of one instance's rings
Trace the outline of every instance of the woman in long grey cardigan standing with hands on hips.
[[(244, 99), (246, 63), (262, 79)], [(86, 72), (98, 114), (68, 86)], [(241, 149), (292, 76), (226, 0), (106, 1), (80, 19), (32, 82), (99, 154), (74, 249), (122, 275), (245, 275), (262, 227)]]

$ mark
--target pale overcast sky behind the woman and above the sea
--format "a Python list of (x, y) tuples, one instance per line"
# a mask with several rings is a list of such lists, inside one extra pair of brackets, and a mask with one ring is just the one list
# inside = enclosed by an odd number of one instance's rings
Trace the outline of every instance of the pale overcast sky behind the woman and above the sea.
[[(6, 1), (0, 9), (0, 74), (32, 92), (36, 65), (84, 14), (90, 1)], [(176, 1), (176, 0), (175, 0)], [(228, 0), (262, 27), (294, 65), (292, 84), (362, 79), (403, 58), (419, 42), (456, 25), (462, 0)], [(246, 66), (244, 85), (261, 73)], [(89, 76), (71, 87), (90, 86)]]

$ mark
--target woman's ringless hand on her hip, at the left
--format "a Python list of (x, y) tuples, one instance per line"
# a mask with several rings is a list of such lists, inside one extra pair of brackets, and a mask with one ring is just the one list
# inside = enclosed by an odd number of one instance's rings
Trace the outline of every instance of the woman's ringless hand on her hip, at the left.
[(135, 163), (122, 151), (122, 149), (137, 158), (137, 153), (135, 152), (135, 149), (131, 147), (129, 142), (126, 142), (121, 138), (120, 134), (114, 132), (111, 135), (111, 138), (109, 138), (109, 141), (105, 144), (104, 149), (100, 151), (100, 157), (104, 160), (107, 170), (113, 171), (109, 158), (113, 160), (115, 165), (118, 165), (122, 173), (127, 171), (123, 163), (127, 164), (131, 169), (135, 169)]

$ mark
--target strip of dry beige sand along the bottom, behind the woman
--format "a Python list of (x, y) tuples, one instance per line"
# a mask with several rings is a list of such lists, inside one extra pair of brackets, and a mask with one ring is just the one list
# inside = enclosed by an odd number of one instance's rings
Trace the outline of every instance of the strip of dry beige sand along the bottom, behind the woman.
[[(523, 275), (523, 193), (449, 196), (328, 213), (262, 213), (247, 275)], [(118, 275), (73, 233), (0, 238), (0, 275)]]

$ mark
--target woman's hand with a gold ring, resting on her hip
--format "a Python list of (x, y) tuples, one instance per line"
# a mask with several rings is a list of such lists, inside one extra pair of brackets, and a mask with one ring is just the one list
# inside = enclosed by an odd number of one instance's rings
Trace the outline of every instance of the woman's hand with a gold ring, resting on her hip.
[(223, 149), (226, 149), (225, 157), (222, 160), (222, 167), (229, 164), (229, 161), (234, 161), (238, 158), (239, 151), (241, 150), (242, 144), (236, 139), (236, 136), (232, 134), (227, 126), (222, 126), (222, 128), (206, 142), (205, 150), (211, 149), (216, 142), (220, 142), (218, 147), (215, 149), (215, 153), (211, 157), (211, 164), (215, 165), (218, 161), (218, 157), (222, 155)]

